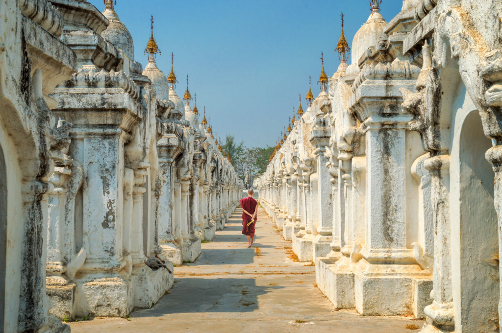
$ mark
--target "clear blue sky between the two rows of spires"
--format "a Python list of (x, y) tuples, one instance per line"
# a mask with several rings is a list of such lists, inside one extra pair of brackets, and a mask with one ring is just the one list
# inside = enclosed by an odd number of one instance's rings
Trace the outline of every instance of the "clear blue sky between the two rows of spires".
[[(90, 0), (100, 11), (102, 0)], [(167, 75), (174, 52), (176, 92), (197, 93), (199, 110), (206, 106), (213, 131), (235, 135), (247, 146), (275, 144), (288, 125), (298, 94), (306, 108), (308, 78), (319, 94), (319, 59), (324, 52), (328, 76), (339, 60), (333, 52), (340, 37), (340, 13), (345, 16), (349, 45), (370, 11), (369, 0), (117, 0), (115, 11), (134, 39), (135, 60), (143, 67), (150, 37), (162, 54), (157, 65)], [(389, 22), (401, 0), (384, 0), (381, 14)], [(193, 103), (192, 103), (193, 107)]]

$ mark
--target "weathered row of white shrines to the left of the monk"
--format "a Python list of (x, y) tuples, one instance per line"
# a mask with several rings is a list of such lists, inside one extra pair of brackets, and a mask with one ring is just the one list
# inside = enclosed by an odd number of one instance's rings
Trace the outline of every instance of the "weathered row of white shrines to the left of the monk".
[(238, 204), (232, 165), (111, 0), (0, 8), (0, 331), (151, 307)]

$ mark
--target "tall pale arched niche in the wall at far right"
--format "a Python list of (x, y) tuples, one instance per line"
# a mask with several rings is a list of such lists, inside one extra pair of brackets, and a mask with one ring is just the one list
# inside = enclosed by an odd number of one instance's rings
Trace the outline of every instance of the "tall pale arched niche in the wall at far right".
[(498, 222), (491, 165), (492, 142), (483, 133), (463, 83), (452, 103), (450, 212), (455, 331), (497, 332)]

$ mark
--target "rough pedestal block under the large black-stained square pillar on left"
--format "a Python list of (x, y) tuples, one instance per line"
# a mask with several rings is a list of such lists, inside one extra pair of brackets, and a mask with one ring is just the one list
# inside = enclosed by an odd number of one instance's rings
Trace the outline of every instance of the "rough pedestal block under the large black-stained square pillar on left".
[(134, 308), (131, 281), (119, 274), (87, 275), (76, 284), (75, 316), (125, 317)]

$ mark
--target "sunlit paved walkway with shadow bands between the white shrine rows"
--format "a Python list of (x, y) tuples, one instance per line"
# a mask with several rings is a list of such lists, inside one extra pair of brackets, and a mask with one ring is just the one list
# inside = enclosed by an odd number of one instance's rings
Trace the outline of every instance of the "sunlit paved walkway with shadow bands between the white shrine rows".
[[(315, 285), (315, 267), (294, 262), (265, 211), (258, 214), (255, 248), (246, 248), (237, 209), (195, 263), (175, 267), (174, 287), (151, 309), (129, 320), (94, 318), (72, 332), (418, 332), (403, 317), (365, 317), (336, 310)], [(288, 253), (290, 252), (290, 253)]]

